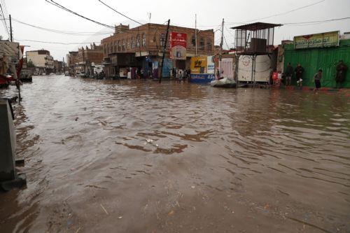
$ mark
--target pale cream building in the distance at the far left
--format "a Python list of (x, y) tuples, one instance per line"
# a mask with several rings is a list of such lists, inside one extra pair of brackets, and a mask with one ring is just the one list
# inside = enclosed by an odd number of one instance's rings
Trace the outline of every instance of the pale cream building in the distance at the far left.
[(48, 50), (26, 52), (27, 62), (32, 62), (41, 73), (51, 73), (54, 69), (53, 57)]

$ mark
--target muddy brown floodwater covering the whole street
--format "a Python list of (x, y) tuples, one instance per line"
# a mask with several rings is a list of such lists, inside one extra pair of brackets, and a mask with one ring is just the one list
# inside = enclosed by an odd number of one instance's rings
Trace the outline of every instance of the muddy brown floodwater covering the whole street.
[(36, 76), (22, 97), (0, 232), (350, 232), (342, 94)]

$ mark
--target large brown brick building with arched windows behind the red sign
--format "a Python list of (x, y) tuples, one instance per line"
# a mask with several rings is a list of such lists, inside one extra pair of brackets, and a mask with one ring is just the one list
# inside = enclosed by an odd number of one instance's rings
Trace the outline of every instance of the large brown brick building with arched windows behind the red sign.
[[(187, 35), (186, 60), (169, 59), (169, 38), (165, 38), (167, 25), (143, 24), (130, 29), (128, 25), (118, 25), (112, 36), (102, 39), (104, 62), (108, 76), (119, 74), (120, 69), (144, 69), (144, 73), (158, 68), (162, 60), (162, 50), (167, 41), (166, 61), (172, 67), (190, 69), (190, 57), (196, 56), (195, 29), (187, 27), (169, 27), (169, 34), (176, 32)], [(214, 30), (197, 29), (197, 55), (214, 55)], [(158, 71), (157, 71), (158, 72)], [(134, 73), (134, 72), (133, 72)]]

